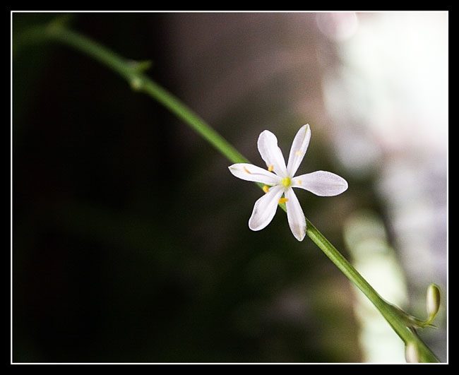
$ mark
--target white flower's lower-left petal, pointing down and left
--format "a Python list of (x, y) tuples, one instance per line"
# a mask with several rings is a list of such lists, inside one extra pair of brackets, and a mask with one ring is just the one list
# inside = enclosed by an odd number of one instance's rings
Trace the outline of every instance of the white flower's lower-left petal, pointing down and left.
[(273, 186), (268, 193), (255, 202), (254, 211), (249, 219), (251, 230), (262, 230), (273, 220), (283, 192), (284, 186)]

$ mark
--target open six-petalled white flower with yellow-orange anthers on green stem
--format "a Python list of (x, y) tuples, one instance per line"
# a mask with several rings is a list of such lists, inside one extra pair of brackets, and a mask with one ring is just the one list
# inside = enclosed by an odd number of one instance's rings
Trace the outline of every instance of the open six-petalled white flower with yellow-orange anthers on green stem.
[(268, 170), (247, 163), (233, 164), (229, 167), (229, 171), (239, 179), (265, 184), (265, 195), (255, 202), (254, 211), (249, 219), (251, 230), (262, 230), (266, 227), (273, 220), (278, 203), (285, 202), (290, 230), (298, 241), (302, 241), (306, 235), (306, 218), (292, 188), (308, 190), (317, 196), (336, 196), (347, 189), (347, 181), (331, 172), (316, 171), (294, 177), (310, 139), (311, 130), (309, 124), (306, 124), (295, 136), (285, 166), (285, 159), (278, 147), (278, 138), (265, 130), (258, 137), (258, 151)]

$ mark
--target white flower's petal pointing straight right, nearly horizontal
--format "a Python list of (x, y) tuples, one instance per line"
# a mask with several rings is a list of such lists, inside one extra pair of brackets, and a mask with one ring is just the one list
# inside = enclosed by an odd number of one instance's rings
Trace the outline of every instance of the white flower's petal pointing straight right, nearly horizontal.
[(347, 190), (347, 181), (338, 174), (316, 171), (292, 179), (292, 187), (299, 187), (316, 196), (337, 196)]

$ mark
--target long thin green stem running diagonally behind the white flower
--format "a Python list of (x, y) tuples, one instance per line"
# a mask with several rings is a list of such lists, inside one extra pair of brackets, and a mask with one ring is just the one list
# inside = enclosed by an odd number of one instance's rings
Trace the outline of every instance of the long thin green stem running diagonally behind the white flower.
[[(88, 54), (93, 59), (107, 66), (112, 71), (116, 71), (130, 84), (133, 90), (141, 91), (157, 102), (160, 102), (169, 111), (174, 113), (179, 119), (182, 119), (186, 124), (191, 126), (199, 133), (206, 141), (213, 145), (222, 155), (225, 155), (231, 162), (249, 162), (242, 154), (240, 154), (232, 145), (225, 141), (220, 134), (213, 130), (208, 124), (198, 117), (189, 107), (186, 107), (180, 100), (167, 90), (157, 85), (148, 76), (145, 76), (142, 64), (135, 62), (115, 54), (106, 47), (94, 42), (93, 40), (84, 37), (69, 30), (61, 23), (50, 23), (44, 26), (30, 28), (23, 37), (17, 38), (17, 44), (30, 42), (46, 42), (56, 41), (66, 44), (70, 47)], [(14, 47), (14, 45), (13, 45)], [(280, 205), (285, 210), (285, 204)], [(421, 362), (439, 362), (433, 352), (425, 345), (417, 336), (415, 330), (407, 326), (398, 310), (392, 304), (386, 302), (371, 285), (360, 275), (357, 270), (330, 244), (328, 239), (319, 232), (314, 225), (306, 219), (307, 230), (306, 234), (309, 238), (330, 258), (335, 266), (337, 266), (345, 276), (361, 290), (366, 297), (376, 306), (382, 316), (388, 321), (395, 333), (407, 343), (415, 343), (419, 352)]]

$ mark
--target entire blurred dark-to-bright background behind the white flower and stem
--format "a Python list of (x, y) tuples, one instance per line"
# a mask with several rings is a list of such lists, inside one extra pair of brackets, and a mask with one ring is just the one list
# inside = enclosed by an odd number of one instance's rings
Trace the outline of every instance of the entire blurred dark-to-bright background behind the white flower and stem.
[[(14, 38), (13, 362), (405, 362), (402, 341), (278, 210), (251, 232), (255, 185), (146, 95), (57, 44)], [(427, 317), (447, 360), (448, 13), (74, 13), (73, 30), (149, 75), (256, 165), (265, 129), (304, 213), (388, 301)]]

